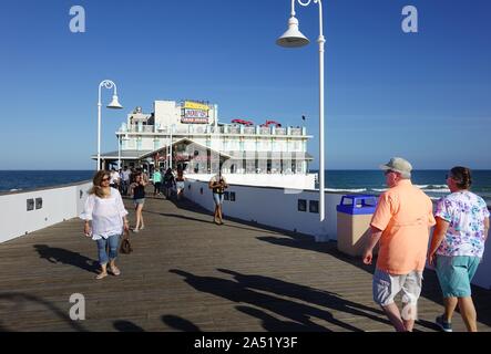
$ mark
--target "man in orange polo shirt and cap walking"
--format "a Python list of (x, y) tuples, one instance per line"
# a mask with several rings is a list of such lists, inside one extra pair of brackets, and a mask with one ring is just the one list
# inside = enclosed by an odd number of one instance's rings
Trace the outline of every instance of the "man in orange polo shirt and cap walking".
[[(371, 264), (372, 250), (380, 241), (374, 274), (374, 301), (398, 332), (412, 331), (421, 293), (430, 228), (436, 223), (431, 199), (411, 184), (412, 166), (393, 157), (380, 168), (389, 189), (385, 191), (371, 219), (371, 238), (364, 263)], [(402, 291), (402, 311), (395, 296)]]

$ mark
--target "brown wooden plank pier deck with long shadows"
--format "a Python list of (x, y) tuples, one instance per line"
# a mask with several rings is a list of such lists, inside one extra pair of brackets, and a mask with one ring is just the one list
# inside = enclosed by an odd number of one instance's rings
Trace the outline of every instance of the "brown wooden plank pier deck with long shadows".
[[(94, 279), (95, 243), (78, 219), (1, 243), (0, 331), (392, 331), (371, 299), (372, 267), (334, 242), (216, 226), (188, 201), (147, 198), (144, 209), (120, 277)], [(85, 299), (84, 321), (70, 320), (73, 293)], [(480, 331), (491, 329), (490, 295), (474, 288)], [(427, 271), (416, 330), (436, 331), (441, 311)], [(464, 330), (458, 313), (453, 326)]]

